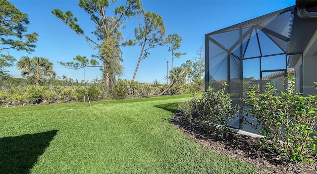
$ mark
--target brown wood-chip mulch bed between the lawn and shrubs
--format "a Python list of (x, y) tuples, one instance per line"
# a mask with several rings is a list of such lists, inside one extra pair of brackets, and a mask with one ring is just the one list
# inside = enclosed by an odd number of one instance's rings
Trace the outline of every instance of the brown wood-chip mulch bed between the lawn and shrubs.
[(312, 164), (297, 163), (269, 149), (260, 149), (259, 139), (233, 133), (225, 139), (206, 134), (201, 126), (175, 115), (170, 121), (196, 142), (242, 162), (258, 166), (270, 174), (317, 174), (317, 160)]

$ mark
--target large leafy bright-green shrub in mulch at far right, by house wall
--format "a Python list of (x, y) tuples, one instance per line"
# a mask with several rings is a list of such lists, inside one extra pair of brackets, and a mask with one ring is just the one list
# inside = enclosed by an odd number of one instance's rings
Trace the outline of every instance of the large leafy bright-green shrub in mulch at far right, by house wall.
[(248, 98), (243, 99), (249, 107), (246, 113), (258, 122), (251, 126), (260, 129), (264, 139), (271, 140), (281, 155), (295, 161), (313, 162), (311, 157), (317, 152), (317, 97), (304, 97), (295, 91), (291, 74), (286, 79), (287, 92), (280, 95), (270, 83), (259, 96), (253, 86)]

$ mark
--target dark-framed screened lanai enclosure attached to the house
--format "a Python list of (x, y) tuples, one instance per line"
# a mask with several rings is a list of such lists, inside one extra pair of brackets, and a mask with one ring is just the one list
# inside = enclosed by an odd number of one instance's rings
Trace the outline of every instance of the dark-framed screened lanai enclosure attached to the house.
[[(294, 73), (288, 60), (302, 55), (289, 50), (293, 19), (294, 6), (291, 6), (205, 35), (206, 89), (219, 88), (227, 82), (233, 104), (242, 104), (240, 99), (253, 85), (260, 93), (267, 82), (277, 91), (285, 91), (284, 76), (287, 71)], [(229, 126), (257, 132), (243, 124), (243, 114), (241, 109), (239, 118)]]

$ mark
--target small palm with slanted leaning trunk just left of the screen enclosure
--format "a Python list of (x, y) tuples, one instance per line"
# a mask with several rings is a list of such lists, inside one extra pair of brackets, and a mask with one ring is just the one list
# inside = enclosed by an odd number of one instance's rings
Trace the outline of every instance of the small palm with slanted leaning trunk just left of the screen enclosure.
[(164, 91), (159, 93), (159, 96), (163, 95), (166, 91), (168, 91), (175, 83), (185, 83), (186, 82), (186, 74), (182, 67), (176, 67), (169, 71), (169, 79), (171, 84)]

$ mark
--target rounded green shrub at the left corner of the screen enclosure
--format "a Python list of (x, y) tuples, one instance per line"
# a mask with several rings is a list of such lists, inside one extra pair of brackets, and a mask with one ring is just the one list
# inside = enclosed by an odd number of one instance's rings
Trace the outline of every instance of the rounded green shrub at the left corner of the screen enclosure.
[(192, 117), (213, 136), (223, 138), (231, 133), (227, 123), (237, 117), (238, 106), (232, 106), (230, 94), (225, 94), (226, 83), (217, 91), (211, 86), (203, 93), (202, 98), (194, 97)]

